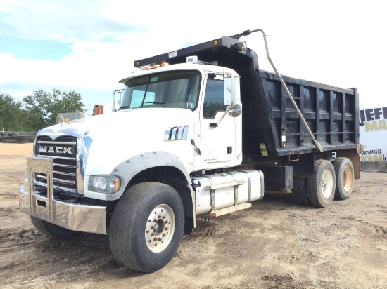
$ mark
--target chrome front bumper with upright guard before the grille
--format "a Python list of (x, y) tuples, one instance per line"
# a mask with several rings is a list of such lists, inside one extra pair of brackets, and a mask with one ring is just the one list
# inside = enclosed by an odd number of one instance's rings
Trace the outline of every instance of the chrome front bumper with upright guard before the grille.
[[(66, 203), (54, 199), (53, 165), (49, 158), (27, 157), (29, 191), (19, 187), (21, 212), (72, 231), (106, 234), (106, 207)], [(34, 191), (34, 173), (47, 174), (47, 196)]]

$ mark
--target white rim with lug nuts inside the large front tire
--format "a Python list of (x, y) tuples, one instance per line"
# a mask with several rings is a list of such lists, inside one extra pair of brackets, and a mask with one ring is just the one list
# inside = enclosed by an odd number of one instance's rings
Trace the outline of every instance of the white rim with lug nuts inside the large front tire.
[(168, 205), (154, 208), (146, 221), (145, 240), (148, 249), (154, 253), (167, 248), (175, 232), (175, 214)]

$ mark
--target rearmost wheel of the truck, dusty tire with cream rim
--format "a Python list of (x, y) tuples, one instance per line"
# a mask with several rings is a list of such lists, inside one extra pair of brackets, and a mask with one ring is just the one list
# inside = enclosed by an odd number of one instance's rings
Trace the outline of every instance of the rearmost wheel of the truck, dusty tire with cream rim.
[(355, 183), (352, 161), (348, 158), (337, 158), (333, 165), (336, 173), (335, 199), (348, 199)]

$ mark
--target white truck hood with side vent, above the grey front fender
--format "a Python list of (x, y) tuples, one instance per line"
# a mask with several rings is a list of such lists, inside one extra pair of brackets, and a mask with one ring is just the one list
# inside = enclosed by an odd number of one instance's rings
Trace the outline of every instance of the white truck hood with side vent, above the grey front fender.
[[(62, 135), (77, 137), (77, 158), (83, 173), (111, 173), (133, 156), (164, 151), (175, 154), (184, 163), (192, 163), (194, 150), (193, 114), (189, 109), (143, 108), (87, 117), (83, 123), (59, 123), (40, 130), (53, 140)], [(185, 139), (169, 141), (171, 128), (188, 126)]]

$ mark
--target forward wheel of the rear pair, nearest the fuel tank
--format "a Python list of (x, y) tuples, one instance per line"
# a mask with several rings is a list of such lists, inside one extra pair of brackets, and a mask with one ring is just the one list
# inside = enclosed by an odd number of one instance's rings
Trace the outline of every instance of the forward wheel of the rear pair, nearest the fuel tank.
[(334, 199), (335, 189), (334, 166), (324, 159), (315, 161), (314, 173), (307, 177), (307, 196), (310, 203), (318, 208), (329, 206)]

